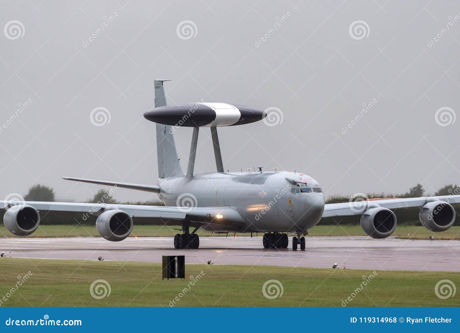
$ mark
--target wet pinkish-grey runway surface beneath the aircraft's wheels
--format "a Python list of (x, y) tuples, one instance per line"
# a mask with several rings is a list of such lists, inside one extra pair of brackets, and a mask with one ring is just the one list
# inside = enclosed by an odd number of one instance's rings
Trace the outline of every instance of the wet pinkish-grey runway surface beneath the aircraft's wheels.
[[(289, 240), (291, 246), (291, 240)], [(102, 238), (3, 238), (7, 256), (161, 262), (163, 255), (185, 255), (186, 263), (276, 265), (347, 269), (460, 271), (460, 241), (399, 240), (369, 237), (307, 237), (305, 251), (264, 249), (261, 237), (200, 237), (200, 249), (176, 250), (172, 237), (128, 237), (121, 242)]]

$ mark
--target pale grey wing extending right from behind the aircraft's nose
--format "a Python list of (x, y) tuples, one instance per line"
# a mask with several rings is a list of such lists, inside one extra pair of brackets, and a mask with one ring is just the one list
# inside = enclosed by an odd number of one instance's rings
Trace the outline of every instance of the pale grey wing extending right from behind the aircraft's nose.
[(325, 204), (322, 217), (361, 215), (371, 205), (379, 205), (388, 209), (422, 207), (429, 201), (444, 201), (449, 204), (459, 204), (460, 195), (442, 195), (437, 197), (397, 198), (366, 201), (343, 202), (340, 204)]

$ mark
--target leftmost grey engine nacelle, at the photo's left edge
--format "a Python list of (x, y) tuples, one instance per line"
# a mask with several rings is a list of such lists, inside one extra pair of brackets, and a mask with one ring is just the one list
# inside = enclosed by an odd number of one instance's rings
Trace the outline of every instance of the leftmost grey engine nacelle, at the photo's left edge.
[(17, 204), (6, 209), (3, 223), (11, 234), (27, 236), (37, 230), (40, 214), (28, 204)]

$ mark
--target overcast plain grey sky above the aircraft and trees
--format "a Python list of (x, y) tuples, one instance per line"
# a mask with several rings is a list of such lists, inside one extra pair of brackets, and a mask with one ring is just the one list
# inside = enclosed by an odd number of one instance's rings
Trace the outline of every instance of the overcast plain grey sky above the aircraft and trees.
[[(143, 117), (154, 78), (173, 80), (165, 84), (169, 104), (204, 99), (282, 111), (276, 126), (219, 129), (225, 170), (301, 170), (329, 195), (401, 193), (417, 182), (434, 192), (460, 182), (458, 1), (0, 7), (1, 198), (37, 182), (58, 199), (88, 199), (100, 188), (62, 176), (156, 184), (155, 124)], [(97, 107), (109, 111), (109, 123), (92, 124)], [(215, 171), (209, 137), (201, 131), (199, 172)], [(175, 138), (186, 169), (191, 129)], [(119, 189), (115, 198), (156, 194)]]

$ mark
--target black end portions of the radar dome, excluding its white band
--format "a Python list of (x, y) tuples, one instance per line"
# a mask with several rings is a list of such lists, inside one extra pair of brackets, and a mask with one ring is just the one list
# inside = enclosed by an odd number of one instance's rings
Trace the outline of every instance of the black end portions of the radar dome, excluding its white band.
[[(243, 125), (262, 120), (264, 111), (246, 105), (235, 105), (241, 113), (240, 119), (231, 126)], [(144, 113), (144, 117), (154, 123), (171, 126), (202, 127), (216, 119), (216, 111), (202, 103), (166, 105)]]

